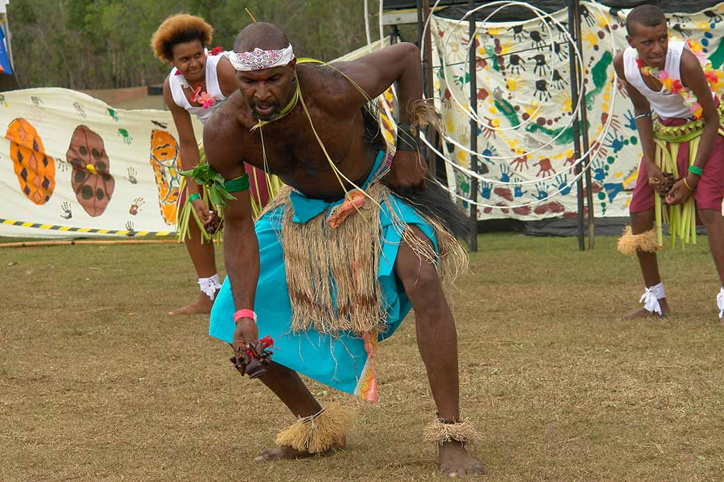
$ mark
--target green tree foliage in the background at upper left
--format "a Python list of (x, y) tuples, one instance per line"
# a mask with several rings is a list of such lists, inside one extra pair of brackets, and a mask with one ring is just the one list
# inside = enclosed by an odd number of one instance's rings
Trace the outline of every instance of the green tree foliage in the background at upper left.
[[(376, 12), (378, 1), (371, 0)], [(366, 43), (361, 0), (33, 0), (9, 5), (20, 85), (72, 89), (160, 83), (169, 66), (153, 56), (151, 35), (169, 15), (188, 12), (214, 27), (213, 46), (231, 49), (257, 20), (289, 35), (300, 56), (334, 59)], [(371, 20), (378, 38), (376, 17)]]

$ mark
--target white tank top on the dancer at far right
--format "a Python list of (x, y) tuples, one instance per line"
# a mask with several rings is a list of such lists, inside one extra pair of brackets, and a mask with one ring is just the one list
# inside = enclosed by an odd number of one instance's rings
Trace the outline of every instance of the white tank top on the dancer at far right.
[[(669, 42), (664, 68), (671, 80), (679, 80), (681, 82), (681, 56), (685, 48), (689, 48), (686, 46), (686, 42)], [(626, 75), (628, 83), (633, 85), (642, 96), (647, 98), (657, 116), (666, 119), (689, 119), (692, 117), (691, 109), (683, 103), (683, 97), (681, 97), (681, 95), (667, 92), (663, 86), (661, 90), (654, 92), (654, 90), (644, 83), (644, 78), (641, 77), (641, 70), (639, 70), (639, 66), (636, 64), (637, 58), (638, 54), (636, 54), (635, 48), (628, 46), (626, 50), (623, 51), (623, 73)]]

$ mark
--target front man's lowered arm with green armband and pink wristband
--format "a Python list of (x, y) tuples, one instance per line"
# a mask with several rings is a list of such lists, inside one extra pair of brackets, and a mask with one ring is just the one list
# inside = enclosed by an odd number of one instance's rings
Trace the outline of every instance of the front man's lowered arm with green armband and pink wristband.
[[(203, 129), (203, 145), (206, 146), (209, 165), (227, 180), (243, 176), (246, 173), (244, 164), (233, 148), (238, 144), (238, 135), (230, 126), (232, 121), (222, 115), (214, 116), (214, 121)], [(236, 199), (227, 200), (224, 208), (224, 265), (236, 310), (253, 310), (259, 279), (259, 245), (254, 231), (251, 198), (248, 189), (232, 195)], [(256, 339), (256, 323), (251, 318), (240, 319), (234, 332), (234, 350)]]

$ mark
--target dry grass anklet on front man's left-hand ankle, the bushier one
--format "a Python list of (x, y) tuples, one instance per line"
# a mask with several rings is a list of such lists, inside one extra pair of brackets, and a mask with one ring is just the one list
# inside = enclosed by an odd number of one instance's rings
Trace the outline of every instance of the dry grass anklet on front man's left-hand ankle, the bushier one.
[(355, 423), (355, 410), (337, 403), (325, 407), (319, 415), (299, 418), (277, 435), (277, 445), (288, 445), (300, 452), (319, 454), (338, 447)]

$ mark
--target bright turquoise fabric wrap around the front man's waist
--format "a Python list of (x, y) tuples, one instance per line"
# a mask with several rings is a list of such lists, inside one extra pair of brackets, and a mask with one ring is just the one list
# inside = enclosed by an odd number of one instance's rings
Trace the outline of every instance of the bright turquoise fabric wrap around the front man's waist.
[[(380, 151), (363, 188), (371, 182), (374, 172), (382, 163), (383, 156), (384, 152)], [(328, 203), (324, 200), (306, 198), (294, 192), (290, 194), (290, 198), (294, 207), (294, 221), (301, 223), (321, 213), (329, 215), (329, 209), (344, 200)], [(413, 224), (421, 229), (432, 240), (437, 250), (432, 227), (418, 215), (417, 211), (395, 195), (391, 194), (388, 199), (397, 217), (405, 224)], [(321, 334), (313, 328), (298, 333), (291, 331), (292, 307), (287, 289), (284, 250), (277, 237), (277, 232), (281, 232), (284, 213), (285, 206), (282, 206), (269, 211), (256, 221), (260, 270), (254, 311), (258, 317), (259, 337), (269, 335), (274, 339), (274, 355), (271, 356), (274, 362), (334, 389), (354, 393), (367, 360), (361, 337), (349, 331), (341, 331), (336, 336)], [(386, 326), (379, 334), (379, 339), (382, 340), (390, 337), (400, 326), (410, 311), (411, 303), (394, 271), (402, 227), (393, 226), (386, 203), (382, 203), (379, 218), (382, 221), (380, 235), (382, 255), (378, 278), (382, 288), (383, 305), (387, 311)], [(209, 326), (211, 337), (222, 339), (227, 343), (232, 342), (235, 329), (233, 316), (236, 310), (227, 276), (211, 310)]]

